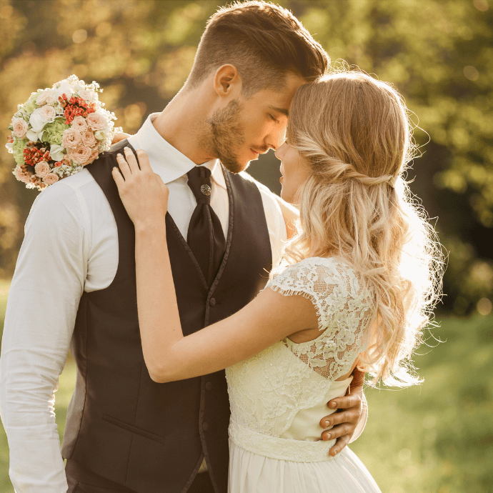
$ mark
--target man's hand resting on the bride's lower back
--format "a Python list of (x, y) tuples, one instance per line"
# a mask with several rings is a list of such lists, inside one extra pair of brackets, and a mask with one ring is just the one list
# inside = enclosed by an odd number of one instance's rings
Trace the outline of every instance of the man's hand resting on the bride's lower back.
[(327, 402), (327, 406), (330, 409), (337, 408), (337, 412), (320, 420), (322, 428), (332, 427), (332, 429), (322, 433), (322, 440), (337, 438), (334, 447), (329, 450), (332, 457), (339, 454), (349, 444), (359, 419), (362, 417), (364, 373), (354, 369), (353, 377), (351, 387), (349, 387), (351, 394)]

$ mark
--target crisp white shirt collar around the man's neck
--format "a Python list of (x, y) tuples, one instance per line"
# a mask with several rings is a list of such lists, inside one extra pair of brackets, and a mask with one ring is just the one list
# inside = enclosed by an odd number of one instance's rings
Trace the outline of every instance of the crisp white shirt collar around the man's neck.
[[(150, 114), (139, 131), (129, 137), (129, 143), (134, 146), (134, 149), (144, 149), (149, 156), (152, 169), (159, 171), (159, 176), (164, 183), (169, 183), (184, 176), (196, 164), (159, 135), (152, 124), (158, 115), (159, 113)], [(209, 168), (216, 184), (226, 189), (226, 181), (219, 159), (211, 159), (200, 166)]]

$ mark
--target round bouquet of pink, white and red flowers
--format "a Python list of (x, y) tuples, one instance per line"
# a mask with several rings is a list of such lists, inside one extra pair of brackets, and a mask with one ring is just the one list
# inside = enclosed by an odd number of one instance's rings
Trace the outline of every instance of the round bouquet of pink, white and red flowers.
[(75, 75), (38, 89), (17, 106), (6, 144), (17, 163), (13, 173), (27, 188), (43, 190), (78, 173), (111, 146), (114, 113), (103, 109), (99, 84)]

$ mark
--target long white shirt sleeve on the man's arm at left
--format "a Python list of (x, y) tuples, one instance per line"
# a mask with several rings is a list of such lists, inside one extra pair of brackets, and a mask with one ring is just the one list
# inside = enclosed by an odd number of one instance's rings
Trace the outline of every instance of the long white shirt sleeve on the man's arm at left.
[(62, 182), (34, 201), (6, 307), (0, 414), (17, 493), (65, 493), (54, 392), (64, 369), (88, 245), (81, 197)]

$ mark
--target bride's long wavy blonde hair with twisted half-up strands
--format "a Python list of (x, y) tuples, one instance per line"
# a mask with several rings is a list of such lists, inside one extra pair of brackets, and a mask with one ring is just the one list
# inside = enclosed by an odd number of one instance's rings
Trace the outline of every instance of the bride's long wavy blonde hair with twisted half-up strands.
[(336, 256), (373, 295), (369, 347), (359, 367), (387, 385), (422, 380), (411, 357), (440, 294), (442, 254), (402, 174), (414, 156), (402, 97), (361, 71), (300, 86), (288, 144), (311, 170), (298, 191), (300, 223), (284, 263)]

